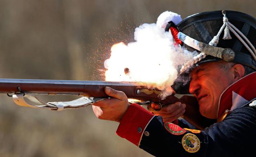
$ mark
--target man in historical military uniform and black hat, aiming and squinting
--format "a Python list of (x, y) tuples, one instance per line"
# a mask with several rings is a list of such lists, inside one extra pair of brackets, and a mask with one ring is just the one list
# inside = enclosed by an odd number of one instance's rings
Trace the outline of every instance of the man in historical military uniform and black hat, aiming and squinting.
[(180, 77), (189, 74), (191, 79), (185, 85), (176, 81), (176, 93), (193, 94), (201, 115), (217, 123), (194, 130), (183, 120), (175, 122), (185, 104), (176, 102), (150, 113), (109, 87), (105, 93), (111, 98), (94, 103), (95, 115), (119, 122), (117, 135), (155, 156), (254, 154), (256, 19), (237, 11), (210, 11), (178, 22), (169, 18), (165, 30), (176, 44), (199, 52), (181, 68)]

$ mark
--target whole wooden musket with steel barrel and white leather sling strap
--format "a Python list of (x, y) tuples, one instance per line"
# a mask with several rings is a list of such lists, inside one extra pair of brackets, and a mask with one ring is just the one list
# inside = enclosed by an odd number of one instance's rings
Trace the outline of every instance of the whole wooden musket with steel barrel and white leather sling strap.
[[(205, 126), (201, 126), (202, 123), (206, 126), (208, 125), (208, 119), (200, 116), (199, 107), (194, 97), (183, 96), (181, 99), (178, 99), (174, 95), (169, 95), (165, 100), (161, 100), (158, 96), (161, 91), (155, 88), (148, 88), (143, 82), (0, 79), (0, 93), (7, 93), (19, 106), (49, 108), (56, 111), (83, 108), (99, 100), (103, 100), (109, 97), (104, 92), (106, 86), (123, 91), (128, 98), (134, 99), (130, 103), (147, 105), (149, 110), (159, 110), (164, 105), (174, 104), (178, 101), (183, 102), (187, 104), (184, 119), (187, 119), (187, 121), (197, 126), (197, 128), (204, 128)], [(82, 97), (69, 102), (45, 103), (37, 99), (34, 96), (35, 94), (79, 95)], [(152, 106), (151, 104), (157, 105)]]

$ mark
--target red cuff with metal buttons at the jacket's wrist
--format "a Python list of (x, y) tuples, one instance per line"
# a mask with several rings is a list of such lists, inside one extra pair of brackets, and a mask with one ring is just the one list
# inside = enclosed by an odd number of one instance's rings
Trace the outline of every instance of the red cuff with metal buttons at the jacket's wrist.
[(117, 128), (117, 135), (127, 139), (136, 146), (142, 137), (147, 124), (154, 117), (152, 113), (138, 104), (130, 104)]

